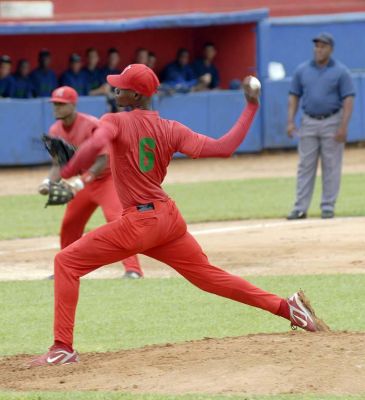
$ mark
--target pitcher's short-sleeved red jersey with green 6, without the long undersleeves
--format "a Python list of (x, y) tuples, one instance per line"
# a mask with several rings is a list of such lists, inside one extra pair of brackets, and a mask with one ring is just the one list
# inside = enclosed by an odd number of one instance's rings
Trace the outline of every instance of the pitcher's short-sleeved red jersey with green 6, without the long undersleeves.
[(108, 123), (111, 168), (124, 208), (167, 198), (161, 183), (173, 154), (198, 157), (206, 138), (156, 111), (106, 114), (101, 121)]

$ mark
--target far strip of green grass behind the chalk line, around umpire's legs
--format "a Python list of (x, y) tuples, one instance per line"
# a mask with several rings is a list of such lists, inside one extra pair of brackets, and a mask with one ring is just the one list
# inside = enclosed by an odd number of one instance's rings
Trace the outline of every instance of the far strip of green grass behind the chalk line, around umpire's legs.
[[(294, 178), (268, 178), (166, 185), (187, 222), (282, 218), (294, 201)], [(365, 175), (344, 175), (336, 208), (339, 216), (365, 215)], [(44, 208), (39, 195), (0, 196), (1, 239), (57, 235), (63, 206)], [(318, 216), (320, 180), (316, 185), (311, 216)], [(104, 223), (98, 211), (88, 228)]]

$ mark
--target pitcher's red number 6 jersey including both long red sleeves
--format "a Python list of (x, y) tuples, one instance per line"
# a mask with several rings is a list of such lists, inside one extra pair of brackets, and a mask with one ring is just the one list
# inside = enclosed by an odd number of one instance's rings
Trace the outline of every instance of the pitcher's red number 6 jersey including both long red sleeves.
[(94, 155), (109, 144), (114, 184), (123, 208), (166, 199), (161, 184), (175, 152), (193, 158), (230, 156), (245, 138), (257, 109), (258, 105), (249, 103), (233, 128), (217, 140), (160, 118), (156, 111), (106, 114), (100, 129), (61, 175), (68, 178), (77, 168), (90, 165)]

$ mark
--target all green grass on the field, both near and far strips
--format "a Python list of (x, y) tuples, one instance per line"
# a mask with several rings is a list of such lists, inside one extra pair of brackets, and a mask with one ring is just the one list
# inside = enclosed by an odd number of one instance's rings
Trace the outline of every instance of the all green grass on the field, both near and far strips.
[[(337, 215), (365, 215), (365, 176), (345, 175)], [(310, 215), (319, 215), (320, 182)], [(291, 209), (295, 180), (176, 184), (166, 186), (188, 222), (281, 218)], [(63, 208), (44, 209), (40, 196), (0, 197), (0, 239), (56, 235)], [(104, 223), (97, 212), (89, 228)], [(299, 287), (313, 299), (318, 315), (334, 330), (361, 331), (365, 313), (365, 275), (320, 275), (248, 278), (263, 289), (287, 296)], [(53, 284), (49, 281), (0, 282), (0, 355), (41, 353), (52, 342)], [(332, 307), (329, 308), (328, 304)], [(91, 313), (90, 310), (93, 310)], [(143, 321), (143, 323), (141, 323)], [(148, 344), (203, 337), (285, 332), (288, 322), (201, 292), (179, 278), (138, 282), (85, 280), (77, 313), (75, 347), (80, 352), (115, 351)], [(121, 393), (11, 393), (0, 400), (335, 400), (365, 396), (211, 396), (132, 395)]]

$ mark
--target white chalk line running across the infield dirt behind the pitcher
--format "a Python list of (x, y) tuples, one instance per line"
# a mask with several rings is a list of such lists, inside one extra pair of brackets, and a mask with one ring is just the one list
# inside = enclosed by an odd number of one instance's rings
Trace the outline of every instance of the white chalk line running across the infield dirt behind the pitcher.
[[(306, 219), (306, 220), (299, 220), (299, 221), (277, 221), (277, 222), (260, 222), (257, 224), (247, 224), (247, 225), (237, 225), (237, 226), (227, 226), (222, 228), (208, 228), (208, 229), (201, 229), (201, 230), (189, 230), (189, 232), (193, 236), (203, 236), (203, 235), (214, 235), (218, 233), (228, 233), (228, 232), (238, 232), (238, 231), (249, 231), (251, 229), (266, 229), (266, 228), (277, 228), (280, 226), (296, 226), (296, 225), (321, 225), (333, 222), (341, 222), (341, 221), (351, 221), (353, 217), (342, 217), (342, 218), (335, 218), (332, 220), (322, 220), (322, 219)], [(227, 221), (229, 223), (229, 221)], [(189, 227), (189, 226), (188, 226)], [(21, 239), (17, 239), (21, 240)], [(24, 239), (28, 240), (28, 239)], [(58, 244), (49, 244), (47, 246), (39, 246), (39, 247), (32, 247), (29, 249), (13, 249), (13, 250), (5, 250), (0, 251), (0, 255), (3, 254), (11, 254), (11, 253), (31, 253), (33, 251), (44, 251), (44, 250), (54, 250), (59, 249)]]

